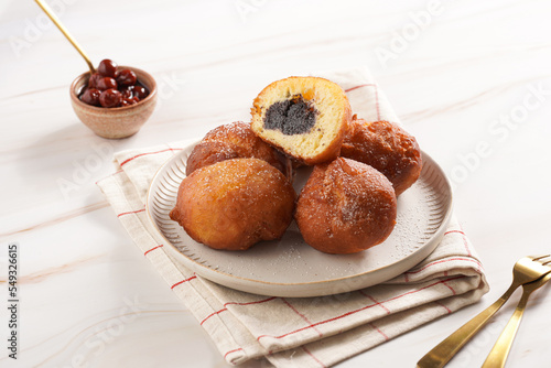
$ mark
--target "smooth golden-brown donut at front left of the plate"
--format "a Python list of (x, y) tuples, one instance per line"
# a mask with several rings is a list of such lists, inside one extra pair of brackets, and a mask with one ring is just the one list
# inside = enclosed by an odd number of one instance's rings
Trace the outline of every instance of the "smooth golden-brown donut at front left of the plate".
[(231, 159), (185, 177), (170, 217), (210, 248), (245, 250), (283, 236), (294, 202), (294, 190), (279, 170), (259, 159)]

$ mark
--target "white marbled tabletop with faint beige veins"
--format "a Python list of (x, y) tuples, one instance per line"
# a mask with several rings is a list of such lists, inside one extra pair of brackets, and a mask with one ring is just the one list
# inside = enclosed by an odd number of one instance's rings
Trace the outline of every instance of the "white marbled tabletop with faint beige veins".
[[(454, 183), (455, 212), (491, 286), (479, 303), (338, 367), (414, 367), (507, 289), (518, 258), (551, 250), (549, 1), (47, 2), (95, 64), (109, 57), (152, 73), (160, 101), (134, 137), (95, 136), (68, 98), (84, 61), (33, 1), (0, 3), (3, 299), (11, 242), (20, 272), (19, 355), (8, 358), (3, 343), (2, 367), (226, 367), (95, 182), (112, 172), (116, 151), (248, 120), (258, 91), (290, 75), (371, 69), (404, 127)], [(128, 305), (137, 313), (108, 334)], [(479, 366), (514, 305), (450, 367)], [(549, 366), (549, 311), (547, 288), (530, 300), (508, 367)]]

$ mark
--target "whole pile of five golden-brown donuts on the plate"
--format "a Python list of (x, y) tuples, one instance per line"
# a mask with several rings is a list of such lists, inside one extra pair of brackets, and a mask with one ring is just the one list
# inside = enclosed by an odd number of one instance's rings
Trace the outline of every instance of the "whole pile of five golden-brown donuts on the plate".
[[(305, 165), (312, 174), (296, 194)], [(294, 219), (311, 247), (355, 253), (392, 232), (397, 197), (421, 167), (399, 126), (353, 116), (333, 82), (290, 77), (257, 96), (250, 123), (220, 126), (193, 149), (170, 217), (214, 249), (279, 239)]]

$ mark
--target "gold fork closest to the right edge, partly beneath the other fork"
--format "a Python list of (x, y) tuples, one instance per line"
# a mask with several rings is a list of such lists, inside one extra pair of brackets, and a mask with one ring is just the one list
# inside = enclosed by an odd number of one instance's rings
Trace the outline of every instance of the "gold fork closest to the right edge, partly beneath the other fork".
[[(547, 263), (551, 263), (551, 261)], [(520, 297), (520, 301), (515, 309), (515, 313), (512, 313), (511, 318), (507, 323), (507, 326), (505, 326), (501, 335), (499, 335), (496, 345), (494, 345), (491, 351), (489, 351), (488, 357), (484, 361), (482, 368), (503, 368), (505, 366), (505, 361), (507, 360), (512, 346), (512, 340), (517, 335), (520, 320), (522, 320), (522, 314), (525, 313), (528, 297), (530, 297), (530, 294), (534, 290), (543, 286), (549, 280), (551, 280), (551, 273), (548, 273), (541, 279), (522, 285), (522, 296)]]

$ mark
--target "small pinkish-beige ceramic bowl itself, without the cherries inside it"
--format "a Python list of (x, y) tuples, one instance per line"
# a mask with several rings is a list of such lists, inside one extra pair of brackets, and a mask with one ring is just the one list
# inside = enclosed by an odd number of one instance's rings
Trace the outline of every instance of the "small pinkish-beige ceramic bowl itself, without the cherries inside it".
[(71, 105), (73, 105), (78, 119), (99, 137), (109, 139), (120, 139), (136, 134), (148, 121), (156, 104), (156, 83), (149, 73), (130, 66), (119, 66), (119, 68), (128, 68), (134, 72), (138, 80), (149, 89), (148, 97), (136, 105), (125, 107), (97, 107), (87, 105), (78, 98), (78, 95), (88, 83), (90, 72), (80, 74), (71, 85)]

